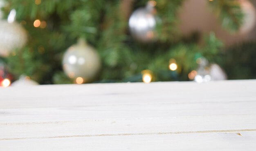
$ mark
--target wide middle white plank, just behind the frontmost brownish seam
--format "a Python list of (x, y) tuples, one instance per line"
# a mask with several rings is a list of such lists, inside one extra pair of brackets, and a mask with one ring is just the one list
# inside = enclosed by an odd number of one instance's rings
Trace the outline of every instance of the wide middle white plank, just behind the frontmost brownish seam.
[(256, 101), (2, 109), (0, 139), (256, 129), (255, 108)]

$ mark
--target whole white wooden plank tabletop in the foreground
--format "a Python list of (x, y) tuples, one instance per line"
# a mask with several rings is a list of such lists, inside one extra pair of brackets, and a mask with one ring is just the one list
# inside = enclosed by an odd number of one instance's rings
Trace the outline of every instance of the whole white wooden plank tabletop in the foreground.
[(0, 151), (256, 150), (256, 80), (0, 88)]

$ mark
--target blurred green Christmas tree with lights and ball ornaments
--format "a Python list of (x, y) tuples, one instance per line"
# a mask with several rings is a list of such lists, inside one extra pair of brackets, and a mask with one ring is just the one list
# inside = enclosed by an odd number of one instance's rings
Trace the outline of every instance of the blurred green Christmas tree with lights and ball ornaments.
[[(186, 81), (200, 58), (224, 66), (225, 57), (214, 33), (205, 35), (204, 44), (196, 33), (182, 37), (177, 13), (183, 1), (6, 0), (4, 18), (15, 9), (28, 39), (3, 60), (16, 79), (23, 74), (40, 84)], [(237, 0), (209, 0), (209, 5), (224, 28), (240, 28), (243, 13)], [(0, 28), (0, 33), (11, 30)], [(81, 38), (89, 45), (74, 45)], [(72, 53), (62, 64), (67, 49)]]

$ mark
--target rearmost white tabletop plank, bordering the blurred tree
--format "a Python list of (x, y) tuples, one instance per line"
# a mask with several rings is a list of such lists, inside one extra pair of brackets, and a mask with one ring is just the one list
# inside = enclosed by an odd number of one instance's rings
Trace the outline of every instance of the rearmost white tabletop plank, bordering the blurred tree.
[(0, 88), (1, 108), (256, 101), (256, 80)]

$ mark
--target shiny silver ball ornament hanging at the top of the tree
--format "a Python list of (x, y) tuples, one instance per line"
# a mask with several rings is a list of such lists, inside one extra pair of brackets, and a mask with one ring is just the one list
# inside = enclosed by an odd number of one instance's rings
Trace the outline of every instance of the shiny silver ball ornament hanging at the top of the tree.
[(157, 18), (155, 16), (156, 2), (151, 0), (145, 8), (135, 10), (129, 19), (129, 28), (132, 37), (139, 42), (152, 42), (156, 39)]

